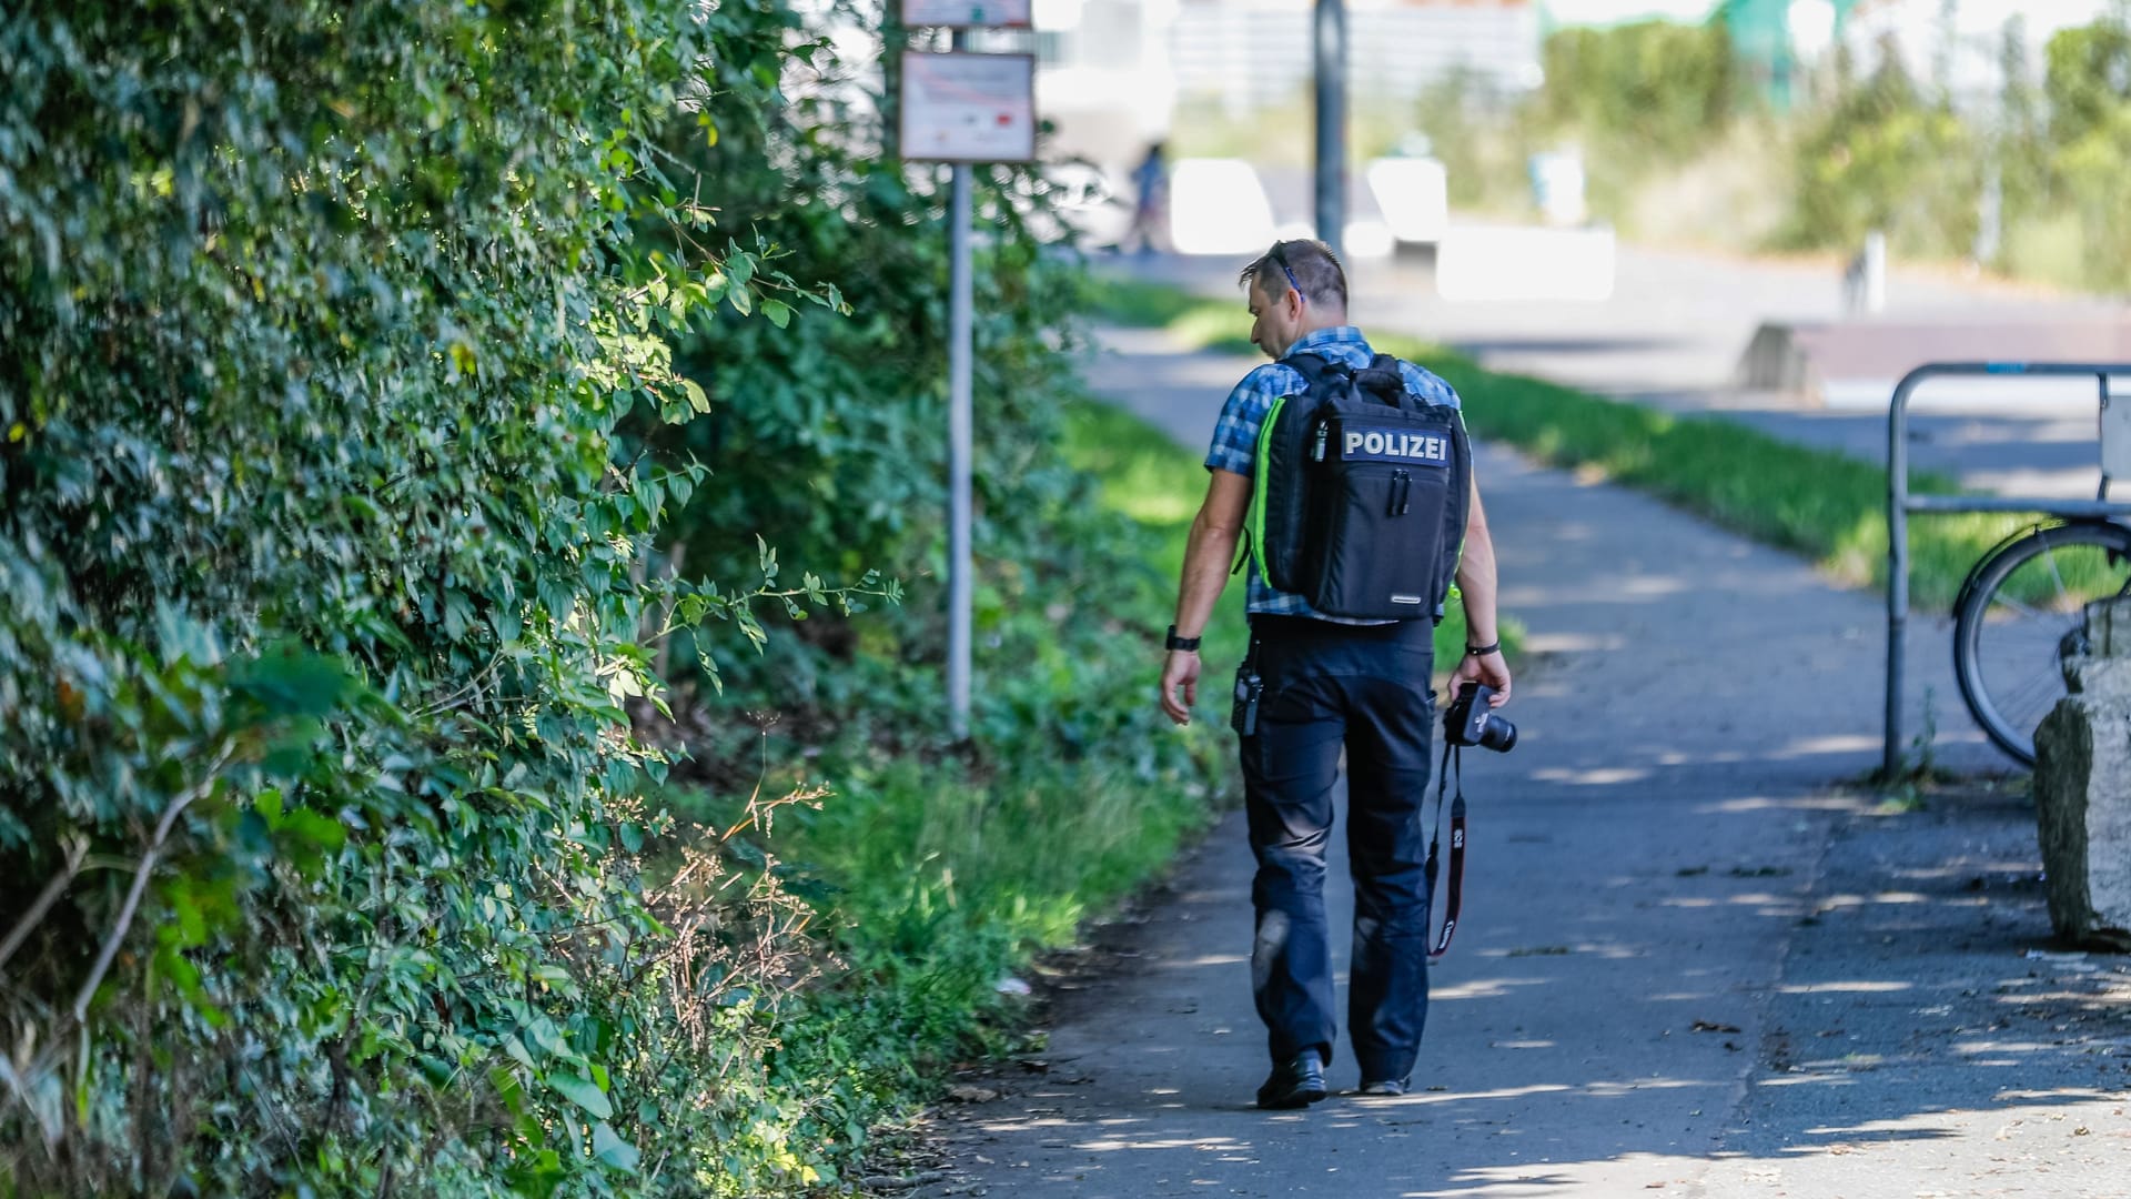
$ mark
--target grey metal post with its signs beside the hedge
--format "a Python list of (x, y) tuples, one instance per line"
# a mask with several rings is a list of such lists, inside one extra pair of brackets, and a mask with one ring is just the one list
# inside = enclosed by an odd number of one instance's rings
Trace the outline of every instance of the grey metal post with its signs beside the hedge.
[[(987, 21), (987, 17), (991, 17)], [(955, 740), (970, 736), (972, 644), (972, 459), (974, 256), (972, 162), (1036, 158), (1036, 60), (1025, 53), (965, 53), (965, 26), (1025, 26), (1027, 2), (989, 6), (972, 0), (906, 0), (910, 23), (948, 23), (955, 53), (904, 53), (901, 145), (914, 162), (950, 162), (948, 175), (948, 341), (946, 341), (946, 710)]]

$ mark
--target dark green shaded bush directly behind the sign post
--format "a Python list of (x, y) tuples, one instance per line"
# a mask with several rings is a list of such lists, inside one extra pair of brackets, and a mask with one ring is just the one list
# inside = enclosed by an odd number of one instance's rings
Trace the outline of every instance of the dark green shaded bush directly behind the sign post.
[[(676, 339), (710, 414), (652, 429), (673, 463), (714, 486), (676, 514), (690, 570), (731, 576), (731, 531), (795, 561), (857, 572), (895, 563), (908, 604), (863, 627), (776, 623), (761, 655), (720, 655), (729, 700), (774, 708), (810, 745), (840, 738), (938, 751), (946, 740), (946, 269), (944, 169), (882, 158), (872, 105), (816, 55), (793, 105), (714, 145), (676, 137), (667, 171), (682, 192), (716, 190), (746, 211), (778, 269), (833, 277), (852, 320), (801, 311), (778, 329), (727, 309)], [(829, 132), (833, 130), (833, 134)], [(1164, 728), (1153, 704), (1123, 706), (1119, 670), (1144, 674), (1168, 600), (1146, 606), (1129, 525), (1093, 499), (1063, 454), (1076, 397), (1070, 354), (1087, 305), (1078, 260), (1038, 235), (1044, 181), (1029, 169), (976, 171), (976, 710), (963, 753), (987, 768), (1025, 745), (1138, 757)], [(748, 542), (752, 544), (752, 542)], [(752, 548), (744, 550), (752, 555)], [(693, 661), (693, 655), (682, 655)], [(707, 683), (707, 681), (705, 681)], [(752, 762), (752, 738), (731, 736)], [(701, 747), (705, 757), (727, 751)], [(1183, 760), (1176, 760), (1183, 762)], [(855, 800), (863, 802), (863, 800)]]

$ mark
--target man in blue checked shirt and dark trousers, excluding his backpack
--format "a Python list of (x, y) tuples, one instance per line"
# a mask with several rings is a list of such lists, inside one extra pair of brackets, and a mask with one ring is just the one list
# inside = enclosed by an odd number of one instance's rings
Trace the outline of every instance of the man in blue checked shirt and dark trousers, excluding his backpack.
[[(1191, 523), (1176, 625), (1161, 666), (1161, 710), (1191, 721), (1200, 683), (1200, 632), (1227, 582), (1251, 501), (1257, 431), (1283, 395), (1306, 388), (1296, 354), (1362, 369), (1372, 358), (1347, 324), (1347, 275), (1321, 241), (1279, 241), (1242, 269), (1251, 341), (1270, 365), (1230, 393), (1206, 469), (1213, 482)], [(1455, 405), (1441, 378), (1402, 363), (1406, 388)], [(1264, 678), (1255, 734), (1242, 736), (1245, 811), (1257, 877), (1251, 905), (1251, 990), (1266, 1022), (1272, 1075), (1259, 1107), (1302, 1107), (1325, 1097), (1338, 1024), (1323, 875), (1332, 830), (1332, 785), (1347, 753), (1347, 851), (1353, 864), (1353, 969), (1347, 1028), (1364, 1094), (1404, 1094), (1428, 1016), (1428, 885), (1421, 792), (1434, 723), (1432, 623), (1355, 623), (1313, 612), (1300, 595), (1274, 591), (1255, 563), (1247, 610), (1257, 674)], [(1451, 693), (1477, 681), (1509, 700), (1509, 666), (1496, 642), (1494, 542), (1473, 489), (1458, 589), (1466, 653)]]

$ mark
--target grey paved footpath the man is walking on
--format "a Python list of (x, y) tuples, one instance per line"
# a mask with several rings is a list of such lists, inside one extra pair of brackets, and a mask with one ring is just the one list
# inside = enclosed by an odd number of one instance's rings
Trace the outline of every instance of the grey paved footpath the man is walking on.
[[(1110, 343), (1097, 386), (1191, 446), (1249, 365)], [(1110, 969), (1055, 1003), (1046, 1073), (948, 1107), (953, 1171), (918, 1195), (2131, 1195), (2131, 973), (2031, 956), (2024, 802), (1841, 787), (1877, 762), (1880, 600), (1628, 491), (1487, 448), (1477, 469), (1528, 627), (1524, 736), (1468, 757), (1415, 1092), (1251, 1107), (1230, 817), (1097, 930)], [(1965, 725), (1946, 627), (1916, 636), (1918, 708), (1931, 689)], [(1995, 766), (1973, 736), (1939, 757)], [(1328, 894), (1345, 928), (1343, 862)], [(1357, 1082), (1345, 1045), (1332, 1082)]]

